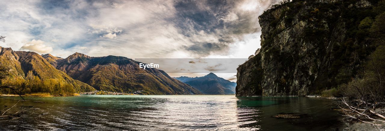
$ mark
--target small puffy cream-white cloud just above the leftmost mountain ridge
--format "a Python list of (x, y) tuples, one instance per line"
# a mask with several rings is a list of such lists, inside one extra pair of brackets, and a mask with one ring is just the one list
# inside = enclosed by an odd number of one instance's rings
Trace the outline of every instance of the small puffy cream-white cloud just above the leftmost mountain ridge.
[(52, 51), (52, 47), (46, 46), (44, 41), (33, 39), (32, 41), (25, 43), (20, 50), (34, 51), (38, 53), (49, 53)]

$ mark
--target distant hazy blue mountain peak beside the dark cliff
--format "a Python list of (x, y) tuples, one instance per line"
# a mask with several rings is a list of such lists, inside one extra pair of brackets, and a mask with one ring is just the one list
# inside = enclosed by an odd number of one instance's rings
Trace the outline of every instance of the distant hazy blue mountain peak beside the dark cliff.
[(203, 77), (176, 77), (175, 79), (180, 80), (186, 84), (197, 88), (204, 94), (234, 94), (235, 93), (235, 82), (230, 82), (221, 77), (218, 77), (214, 73), (209, 73)]

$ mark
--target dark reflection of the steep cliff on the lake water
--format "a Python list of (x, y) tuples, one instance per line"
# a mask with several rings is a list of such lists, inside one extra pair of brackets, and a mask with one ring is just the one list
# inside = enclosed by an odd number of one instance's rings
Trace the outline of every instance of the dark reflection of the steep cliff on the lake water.
[[(335, 131), (343, 126), (336, 111), (330, 110), (332, 100), (306, 97), (238, 97), (238, 112), (258, 109), (257, 124), (262, 130)], [(300, 119), (273, 118), (278, 113), (301, 114)], [(256, 127), (251, 124), (250, 127)]]

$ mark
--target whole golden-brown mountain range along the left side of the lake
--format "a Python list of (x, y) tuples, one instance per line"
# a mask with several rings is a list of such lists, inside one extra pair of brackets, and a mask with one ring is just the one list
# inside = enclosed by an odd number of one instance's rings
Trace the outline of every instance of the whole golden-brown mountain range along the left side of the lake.
[(103, 90), (110, 92), (141, 91), (147, 95), (201, 94), (199, 90), (173, 79), (163, 70), (140, 69), (127, 57), (90, 57), (74, 53), (63, 59), (51, 54), (13, 51), (0, 47), (2, 64), (11, 67), (13, 77), (25, 77), (32, 71), (40, 79), (57, 79), (74, 86), (76, 92)]

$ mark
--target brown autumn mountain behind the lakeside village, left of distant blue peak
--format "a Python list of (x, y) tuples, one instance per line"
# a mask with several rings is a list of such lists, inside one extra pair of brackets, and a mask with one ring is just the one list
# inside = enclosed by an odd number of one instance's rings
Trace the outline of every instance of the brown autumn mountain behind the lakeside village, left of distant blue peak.
[(111, 92), (143, 91), (148, 95), (200, 94), (197, 89), (154, 68), (141, 69), (127, 57), (90, 57), (74, 53), (57, 61), (57, 69), (97, 90)]

